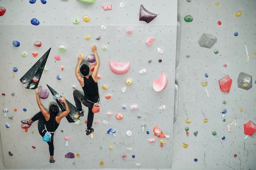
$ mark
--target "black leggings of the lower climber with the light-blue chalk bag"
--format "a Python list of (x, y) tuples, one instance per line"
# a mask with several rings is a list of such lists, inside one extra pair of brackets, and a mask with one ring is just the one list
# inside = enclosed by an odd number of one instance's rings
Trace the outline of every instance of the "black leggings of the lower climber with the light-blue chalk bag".
[[(46, 133), (46, 130), (43, 131), (45, 129), (45, 116), (43, 116), (43, 113), (40, 111), (38, 113), (36, 113), (32, 118), (31, 120), (33, 122), (35, 122), (36, 120), (38, 120), (38, 131), (40, 133), (40, 135), (43, 137)], [(43, 131), (43, 132), (42, 132)], [(54, 133), (51, 133), (52, 134), (52, 137), (50, 139), (49, 142), (47, 142), (47, 144), (49, 145), (49, 152), (50, 152), (50, 156), (53, 155), (54, 153), (54, 146), (53, 146), (53, 136), (54, 136)]]

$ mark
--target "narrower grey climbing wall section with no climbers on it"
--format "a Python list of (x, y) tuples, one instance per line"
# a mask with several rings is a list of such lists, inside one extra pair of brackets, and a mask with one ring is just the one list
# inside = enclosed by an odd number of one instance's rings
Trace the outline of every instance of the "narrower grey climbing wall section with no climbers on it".
[(254, 0), (178, 0), (173, 169), (256, 169), (255, 7)]

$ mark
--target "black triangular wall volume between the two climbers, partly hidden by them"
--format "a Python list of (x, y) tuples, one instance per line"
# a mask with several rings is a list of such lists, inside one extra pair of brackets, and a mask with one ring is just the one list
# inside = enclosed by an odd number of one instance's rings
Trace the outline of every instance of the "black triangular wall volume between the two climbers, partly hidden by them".
[[(58, 96), (59, 98), (61, 98), (62, 96), (60, 94), (58, 94), (54, 89), (52, 89), (52, 87), (50, 87), (49, 85), (47, 85), (47, 87), (49, 88), (50, 92), (52, 93), (53, 96)], [(67, 99), (66, 99), (67, 101)], [(65, 104), (61, 103), (58, 98), (56, 99), (56, 102), (58, 103), (58, 106), (61, 108), (62, 111), (66, 110)], [(70, 107), (70, 113), (65, 116), (67, 118), (67, 121), (72, 123), (72, 122), (76, 122), (76, 120), (78, 120), (80, 118), (80, 116), (78, 118), (74, 118), (74, 116), (76, 115), (76, 112), (79, 112), (78, 109), (72, 105), (69, 101), (67, 101), (67, 105)]]

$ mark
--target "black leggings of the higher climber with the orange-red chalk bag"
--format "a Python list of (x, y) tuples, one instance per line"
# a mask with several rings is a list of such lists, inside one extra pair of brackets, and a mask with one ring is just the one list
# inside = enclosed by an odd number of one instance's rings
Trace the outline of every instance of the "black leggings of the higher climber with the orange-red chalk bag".
[(82, 111), (82, 104), (85, 105), (86, 107), (88, 107), (88, 116), (87, 116), (87, 129), (91, 129), (92, 127), (92, 122), (93, 122), (93, 116), (94, 113), (92, 112), (92, 107), (94, 105), (94, 103), (89, 102), (88, 100), (85, 100), (83, 94), (81, 94), (81, 92), (79, 90), (74, 90), (73, 92), (73, 96), (74, 96), (74, 100), (76, 103), (76, 108), (79, 111)]

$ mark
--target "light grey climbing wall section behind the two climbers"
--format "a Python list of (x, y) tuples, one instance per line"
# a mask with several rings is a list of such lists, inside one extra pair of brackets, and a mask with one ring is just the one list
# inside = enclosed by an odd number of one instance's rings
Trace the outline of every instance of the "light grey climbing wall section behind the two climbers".
[[(83, 1), (0, 0), (4, 167), (170, 169), (177, 1)], [(76, 57), (82, 53), (83, 63), (94, 64), (87, 60), (92, 45), (101, 62), (94, 133), (85, 132), (87, 107), (85, 116), (73, 117), (75, 123), (63, 118), (54, 134), (56, 162), (49, 163), (38, 122), (22, 129), (20, 121), (39, 111), (36, 87), (45, 92), (46, 109), (57, 105), (49, 89), (58, 93), (56, 100), (65, 96), (75, 106), (73, 90), (82, 90)]]

